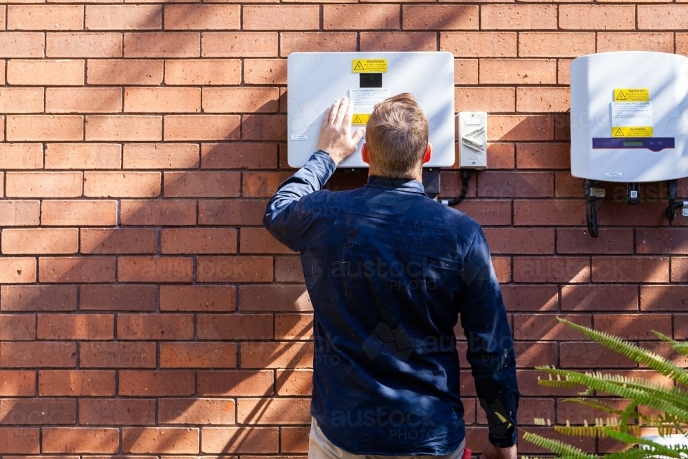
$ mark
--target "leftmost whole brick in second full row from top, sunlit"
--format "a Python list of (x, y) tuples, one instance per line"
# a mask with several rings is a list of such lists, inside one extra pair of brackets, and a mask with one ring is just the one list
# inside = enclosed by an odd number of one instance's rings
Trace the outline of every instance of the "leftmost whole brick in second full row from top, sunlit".
[(122, 57), (122, 34), (47, 33), (47, 57)]

